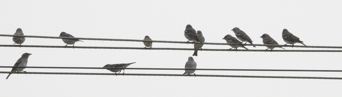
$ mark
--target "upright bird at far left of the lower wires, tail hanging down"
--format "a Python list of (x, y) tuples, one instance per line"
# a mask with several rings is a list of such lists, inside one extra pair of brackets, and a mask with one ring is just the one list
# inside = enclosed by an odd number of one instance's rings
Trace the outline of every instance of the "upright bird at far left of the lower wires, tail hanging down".
[[(26, 67), (27, 66), (27, 59), (30, 55), (32, 55), (32, 54), (24, 53), (22, 55), (22, 57), (17, 60), (17, 62), (14, 64), (14, 66)], [(12, 68), (11, 72), (21, 72), (24, 69), (25, 68)], [(26, 71), (24, 71), (24, 72), (26, 72)], [(6, 79), (8, 79), (8, 77), (10, 77), (11, 74), (12, 73), (9, 73)]]

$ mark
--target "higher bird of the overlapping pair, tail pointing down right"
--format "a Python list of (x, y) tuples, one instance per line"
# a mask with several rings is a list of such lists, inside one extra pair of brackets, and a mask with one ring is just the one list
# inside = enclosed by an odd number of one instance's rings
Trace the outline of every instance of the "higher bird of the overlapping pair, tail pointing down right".
[(232, 31), (235, 33), (237, 39), (241, 40), (242, 42), (248, 42), (252, 44), (253, 47), (255, 47), (255, 45), (252, 43), (253, 41), (251, 40), (251, 38), (249, 38), (244, 31), (240, 30), (238, 27), (233, 28)]

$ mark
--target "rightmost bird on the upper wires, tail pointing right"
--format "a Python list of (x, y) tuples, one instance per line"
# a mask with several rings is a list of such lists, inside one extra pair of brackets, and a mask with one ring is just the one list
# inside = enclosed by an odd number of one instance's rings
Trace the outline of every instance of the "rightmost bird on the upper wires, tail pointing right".
[(298, 37), (294, 36), (287, 29), (282, 30), (282, 39), (286, 42), (286, 44), (292, 44), (293, 45), (295, 43), (301, 43), (301, 44), (305, 45), (303, 43), (303, 41), (300, 41)]

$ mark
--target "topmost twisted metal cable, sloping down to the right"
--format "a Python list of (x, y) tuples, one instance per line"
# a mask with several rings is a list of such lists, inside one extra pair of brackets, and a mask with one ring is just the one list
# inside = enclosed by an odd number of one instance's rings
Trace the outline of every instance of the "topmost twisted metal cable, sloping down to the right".
[[(8, 35), (0, 34), (4, 37), (27, 37), (27, 38), (49, 38), (49, 39), (80, 39), (80, 40), (104, 40), (104, 41), (135, 41), (135, 42), (159, 42), (159, 43), (186, 43), (199, 44), (198, 42), (181, 42), (181, 41), (150, 41), (150, 40), (133, 40), (133, 39), (104, 39), (104, 38), (73, 38), (73, 37), (47, 37), (47, 36), (24, 36), (24, 35)], [(251, 44), (236, 44), (236, 43), (208, 43), (210, 45), (247, 45)], [(301, 46), (301, 45), (274, 45), (274, 44), (254, 44), (255, 46), (276, 46), (276, 47), (305, 47), (305, 48), (342, 48), (342, 46)]]

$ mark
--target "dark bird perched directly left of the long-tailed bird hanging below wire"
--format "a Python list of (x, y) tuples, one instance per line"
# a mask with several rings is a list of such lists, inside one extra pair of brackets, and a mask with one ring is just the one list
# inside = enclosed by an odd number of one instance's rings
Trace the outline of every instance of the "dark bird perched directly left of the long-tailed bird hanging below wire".
[[(196, 33), (196, 30), (195, 30), (194, 28), (192, 28), (192, 26), (189, 25), (189, 24), (186, 25), (186, 27), (185, 27), (184, 36), (185, 36), (185, 38), (188, 39), (189, 41), (195, 42), (195, 40), (196, 40), (196, 41), (200, 42), (201, 44), (203, 43), (203, 42), (198, 38), (197, 33)], [(187, 41), (187, 42), (189, 42), (189, 41)]]

